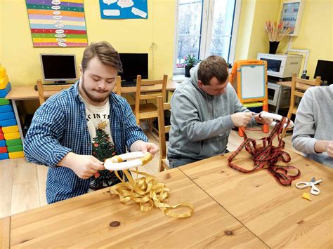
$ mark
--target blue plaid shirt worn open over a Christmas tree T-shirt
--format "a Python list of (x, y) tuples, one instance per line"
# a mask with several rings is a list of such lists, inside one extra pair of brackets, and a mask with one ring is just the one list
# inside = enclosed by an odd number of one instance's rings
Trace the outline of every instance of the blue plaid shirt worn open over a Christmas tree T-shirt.
[[(48, 203), (86, 194), (90, 179), (57, 164), (68, 152), (91, 155), (91, 137), (84, 102), (79, 98), (79, 83), (50, 97), (32, 119), (24, 142), (28, 161), (48, 166), (46, 199)], [(129, 151), (136, 140), (147, 137), (136, 125), (131, 107), (123, 97), (110, 94), (110, 127), (117, 154)]]

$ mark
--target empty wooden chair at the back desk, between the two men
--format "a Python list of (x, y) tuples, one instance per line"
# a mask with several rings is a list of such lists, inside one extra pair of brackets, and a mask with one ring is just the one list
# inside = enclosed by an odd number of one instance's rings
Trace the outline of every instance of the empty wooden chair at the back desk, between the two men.
[[(136, 116), (136, 123), (140, 123), (141, 119), (148, 119), (150, 130), (152, 128), (152, 118), (157, 118), (157, 106), (154, 103), (149, 103), (147, 100), (156, 100), (157, 96), (162, 96), (165, 102), (166, 100), (166, 82), (168, 76), (164, 74), (161, 80), (141, 80), (141, 75), (136, 77), (136, 104), (131, 106), (134, 115)], [(141, 93), (142, 86), (160, 86), (154, 93), (143, 94)], [(141, 100), (146, 100), (145, 103), (141, 103)]]

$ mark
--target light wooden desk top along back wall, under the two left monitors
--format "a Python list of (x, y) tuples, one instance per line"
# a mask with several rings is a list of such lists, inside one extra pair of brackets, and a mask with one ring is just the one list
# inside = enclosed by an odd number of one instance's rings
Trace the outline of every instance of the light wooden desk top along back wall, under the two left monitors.
[[(166, 83), (166, 90), (175, 90), (179, 83), (171, 79)], [(160, 86), (142, 86), (142, 91), (149, 93), (158, 90)], [(50, 97), (57, 92), (44, 92), (45, 97)], [(136, 93), (135, 86), (122, 87), (122, 93)], [(38, 99), (38, 92), (34, 86), (12, 86), (11, 91), (6, 95), (7, 100), (34, 100)]]

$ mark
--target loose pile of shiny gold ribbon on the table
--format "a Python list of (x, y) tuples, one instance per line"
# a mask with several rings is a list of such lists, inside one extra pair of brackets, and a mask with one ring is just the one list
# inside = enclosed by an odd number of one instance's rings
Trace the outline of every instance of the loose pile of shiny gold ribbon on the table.
[[(135, 172), (136, 175), (143, 175), (143, 177), (134, 180), (129, 171)], [(110, 187), (110, 193), (117, 194), (121, 203), (135, 201), (139, 203), (143, 212), (148, 212), (155, 206), (162, 210), (165, 215), (175, 218), (185, 218), (192, 215), (194, 210), (192, 203), (184, 202), (174, 206), (165, 203), (164, 200), (169, 196), (170, 189), (166, 188), (165, 184), (157, 182), (152, 175), (138, 172), (138, 168), (136, 168), (136, 171), (122, 170), (122, 172), (126, 175), (129, 182), (125, 182), (124, 178), (119, 177), (118, 172), (115, 171), (115, 174), (122, 182)], [(171, 209), (181, 206), (190, 208), (190, 211), (185, 213), (174, 213), (171, 211)]]

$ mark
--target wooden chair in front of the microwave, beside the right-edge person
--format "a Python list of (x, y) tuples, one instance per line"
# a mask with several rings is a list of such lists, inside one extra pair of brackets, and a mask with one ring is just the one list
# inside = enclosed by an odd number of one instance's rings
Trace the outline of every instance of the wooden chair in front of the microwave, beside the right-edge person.
[[(308, 79), (300, 79), (296, 76), (296, 74), (292, 74), (292, 90), (290, 93), (290, 107), (289, 112), (287, 114), (287, 118), (290, 119), (292, 114), (296, 114), (297, 106), (296, 106), (296, 97), (303, 97), (304, 89), (307, 89), (311, 86), (320, 86), (320, 76), (316, 77), (314, 81)], [(286, 131), (292, 130), (292, 128), (285, 129), (282, 132), (282, 137), (285, 137)]]

